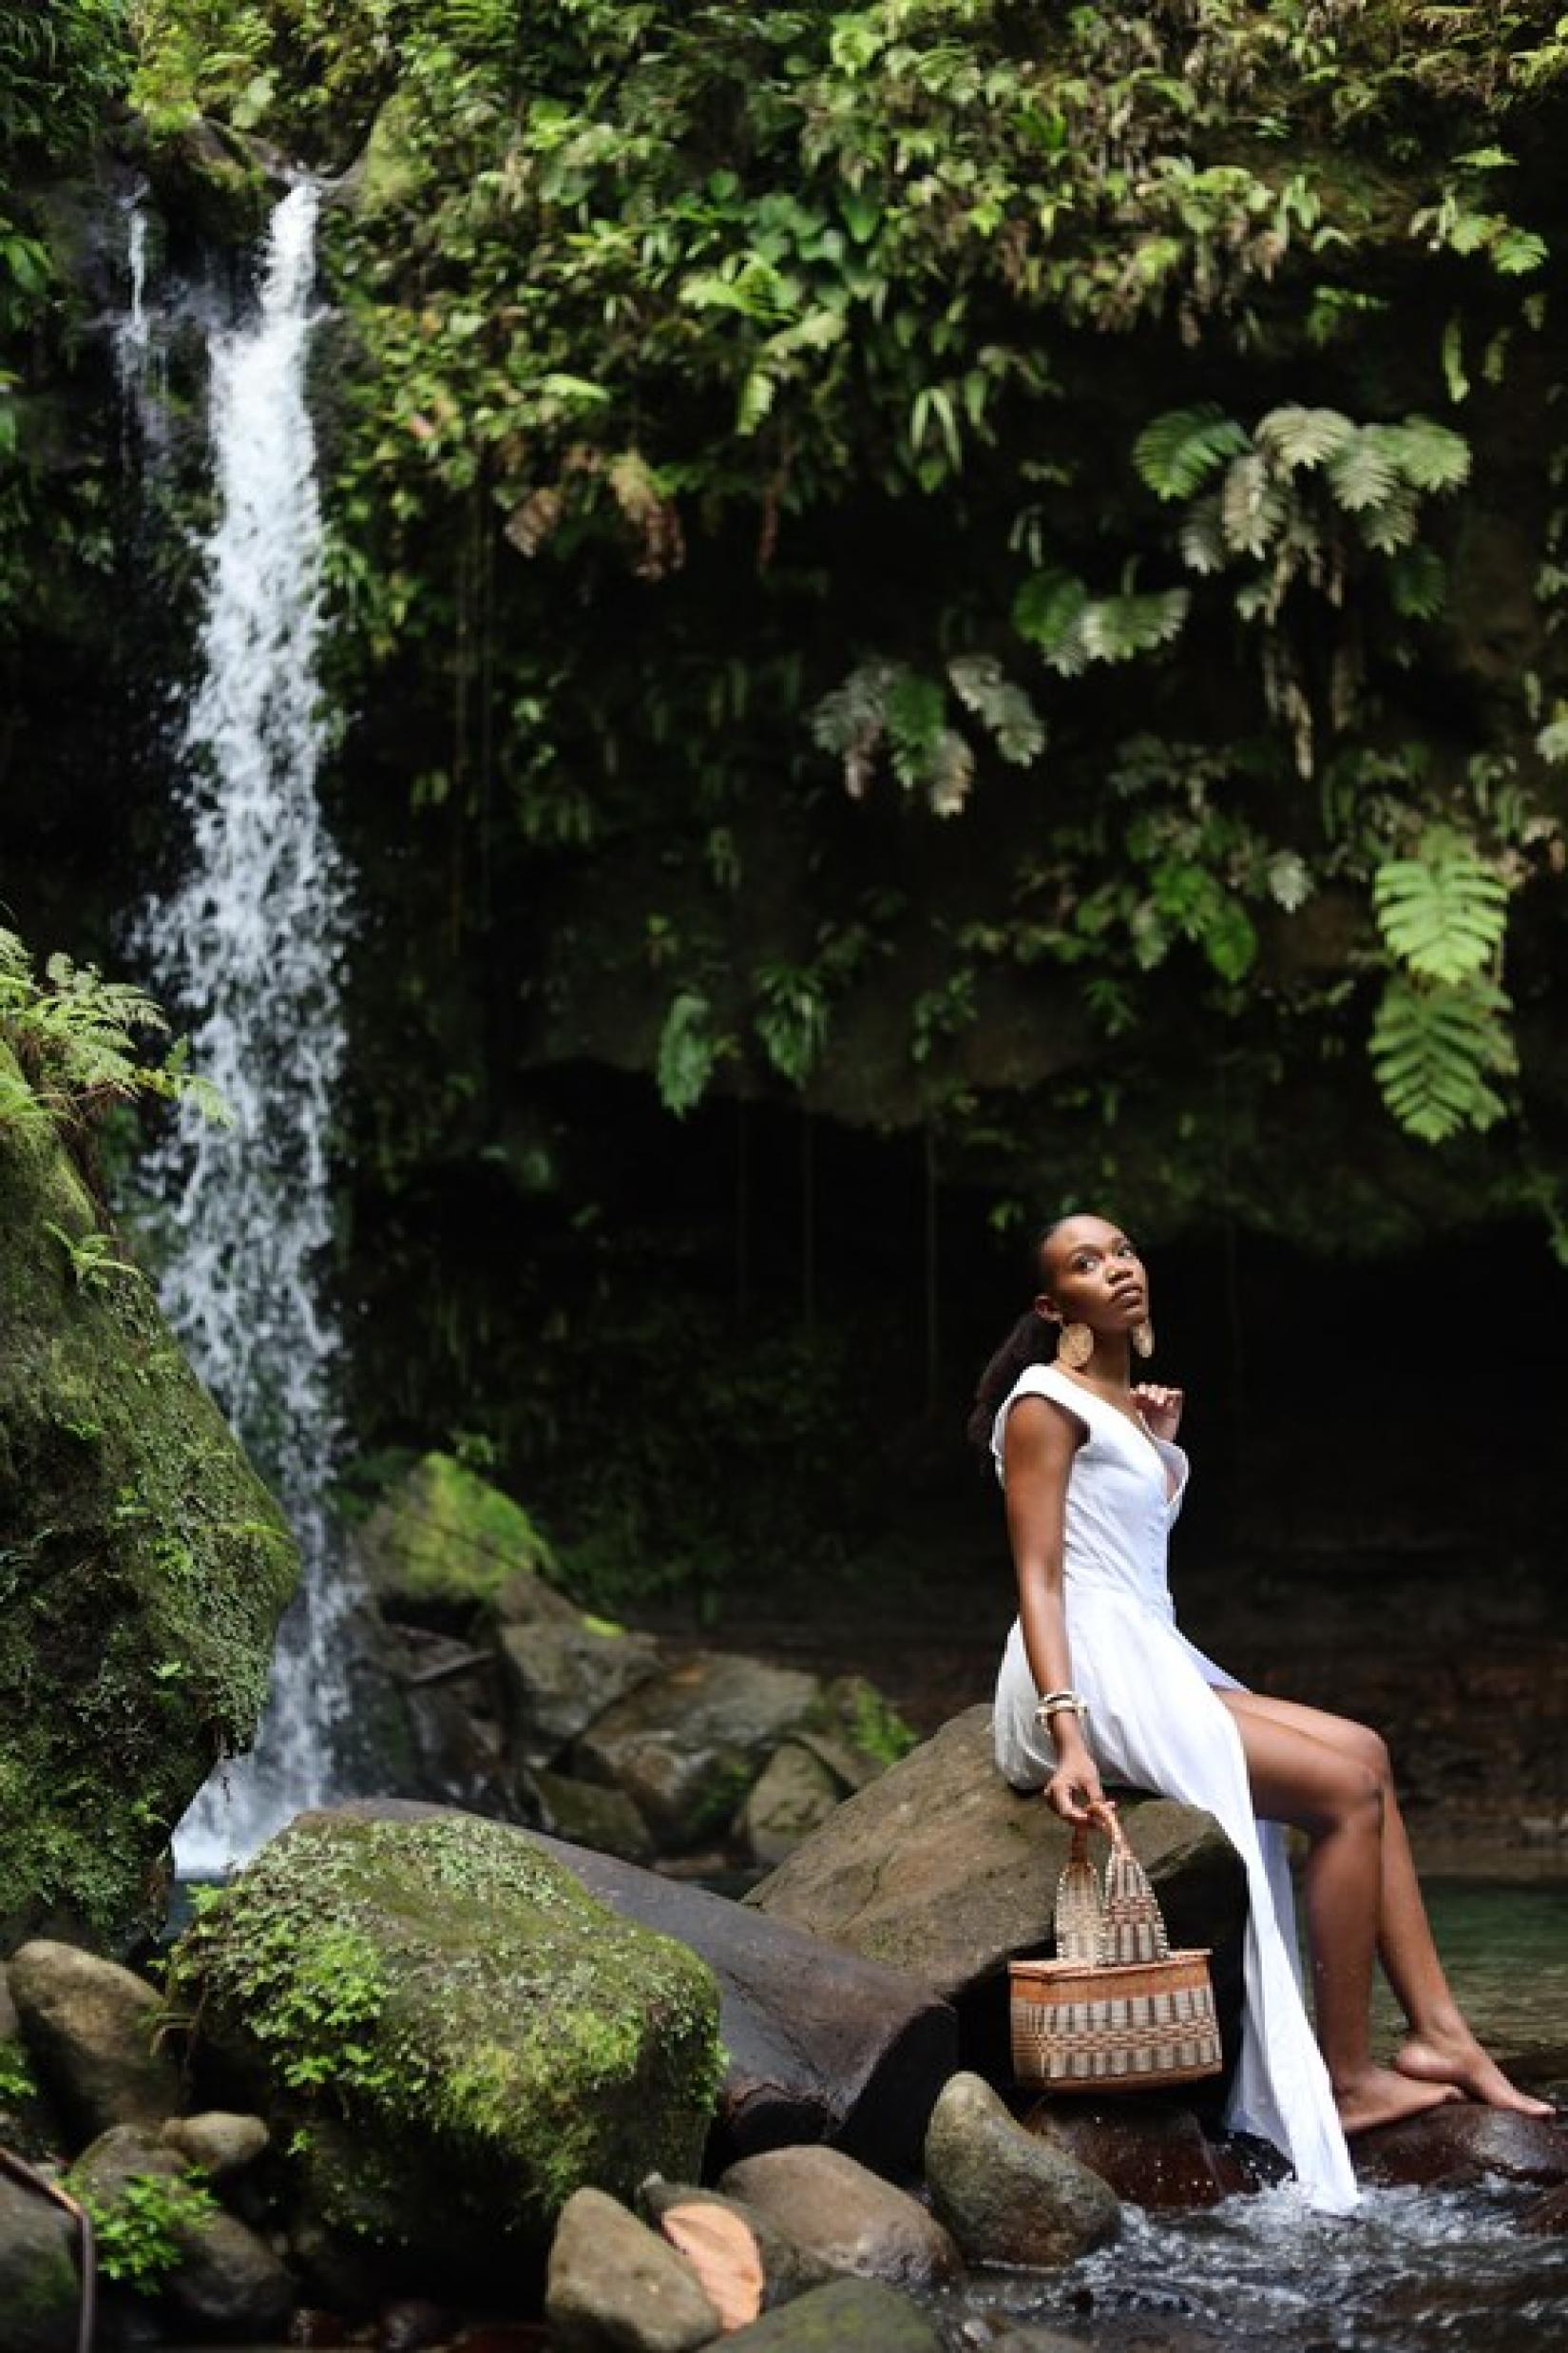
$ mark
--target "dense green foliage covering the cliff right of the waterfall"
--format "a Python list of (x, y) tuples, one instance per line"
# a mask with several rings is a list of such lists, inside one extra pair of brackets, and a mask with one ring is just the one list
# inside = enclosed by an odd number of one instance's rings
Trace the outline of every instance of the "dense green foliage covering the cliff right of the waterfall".
[[(1554, 9), (148, 0), (141, 40), (155, 125), (355, 162), (350, 673), (449, 704), (411, 805), (494, 899), (531, 852), (646, 856), (543, 988), (609, 955), (654, 993), (675, 1111), (809, 1087), (919, 934), (912, 1094), (959, 1151), (987, 984), (1051, 1019), (1053, 972), (1124, 1068), (1175, 981), (1215, 1052), (1359, 1035), (1429, 1141), (1516, 1108), (1549, 614), (1512, 692), (1422, 706), (1460, 492), (1540, 402)], [(832, 856), (830, 758), (914, 831), (990, 802), (1006, 871), (940, 946)], [(813, 920), (757, 906), (778, 828)], [(1483, 958), (1389, 920), (1448, 920), (1429, 840)], [(1314, 899), (1324, 960), (1288, 936)]]

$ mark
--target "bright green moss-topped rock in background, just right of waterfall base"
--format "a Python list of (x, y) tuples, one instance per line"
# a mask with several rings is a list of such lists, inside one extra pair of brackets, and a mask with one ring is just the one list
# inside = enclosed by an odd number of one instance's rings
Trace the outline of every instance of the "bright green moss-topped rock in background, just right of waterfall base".
[(555, 1567), (522, 1504), (451, 1454), (425, 1454), (369, 1515), (357, 1541), (376, 1598), (400, 1609), (477, 1609), (520, 1572)]

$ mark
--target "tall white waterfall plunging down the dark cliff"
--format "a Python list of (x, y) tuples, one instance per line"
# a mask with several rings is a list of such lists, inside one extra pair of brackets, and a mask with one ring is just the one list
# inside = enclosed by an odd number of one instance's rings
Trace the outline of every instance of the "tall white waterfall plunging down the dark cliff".
[[(254, 315), (209, 327), (214, 522), (179, 760), (190, 845), (179, 885), (134, 925), (148, 984), (235, 1115), (226, 1129), (181, 1106), (146, 1169), (167, 1235), (162, 1304), (303, 1553), (259, 1746), (181, 1824), (190, 1873), (242, 1859), (329, 1795), (343, 1706), (348, 1598), (327, 1508), (341, 1337), (324, 1254), (348, 889), (317, 802), (315, 219), (315, 188), (294, 188), (273, 214)], [(120, 348), (139, 353), (134, 329)]]

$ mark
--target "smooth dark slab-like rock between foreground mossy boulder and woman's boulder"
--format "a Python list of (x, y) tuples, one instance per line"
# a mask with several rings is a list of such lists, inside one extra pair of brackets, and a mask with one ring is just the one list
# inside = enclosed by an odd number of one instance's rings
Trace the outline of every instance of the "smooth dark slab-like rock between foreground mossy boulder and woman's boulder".
[(717, 1977), (729, 2071), (710, 2162), (792, 2141), (832, 2141), (889, 2172), (919, 2162), (931, 2104), (957, 2064), (945, 2002), (703, 1887), (538, 1845), (611, 1911), (677, 1937)]

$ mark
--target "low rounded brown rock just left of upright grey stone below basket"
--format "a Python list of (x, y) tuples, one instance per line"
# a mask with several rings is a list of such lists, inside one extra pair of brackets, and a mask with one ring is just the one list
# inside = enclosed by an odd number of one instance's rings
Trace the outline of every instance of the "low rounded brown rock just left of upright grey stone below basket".
[(731, 2165), (719, 2188), (832, 2271), (893, 2287), (936, 2287), (959, 2273), (945, 2226), (842, 2148), (771, 2148)]

